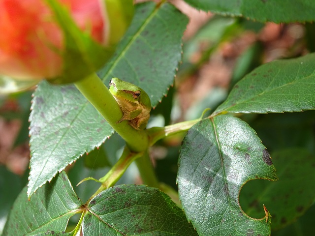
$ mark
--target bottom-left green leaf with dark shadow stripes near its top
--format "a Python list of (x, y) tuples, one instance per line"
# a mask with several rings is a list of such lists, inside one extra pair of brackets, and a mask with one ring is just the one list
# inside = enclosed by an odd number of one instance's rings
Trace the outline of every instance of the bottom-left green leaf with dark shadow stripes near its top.
[(68, 177), (62, 172), (38, 189), (30, 201), (27, 187), (22, 190), (9, 214), (3, 236), (64, 231), (69, 218), (81, 205), (82, 202), (74, 193)]

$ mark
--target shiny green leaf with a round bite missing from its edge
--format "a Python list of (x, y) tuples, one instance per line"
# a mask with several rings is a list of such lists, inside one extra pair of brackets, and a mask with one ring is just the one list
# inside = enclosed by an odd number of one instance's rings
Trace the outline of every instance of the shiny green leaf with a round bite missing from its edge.
[(269, 217), (250, 218), (239, 205), (248, 180), (277, 179), (268, 151), (246, 122), (221, 115), (189, 129), (177, 178), (183, 209), (199, 236), (270, 235)]

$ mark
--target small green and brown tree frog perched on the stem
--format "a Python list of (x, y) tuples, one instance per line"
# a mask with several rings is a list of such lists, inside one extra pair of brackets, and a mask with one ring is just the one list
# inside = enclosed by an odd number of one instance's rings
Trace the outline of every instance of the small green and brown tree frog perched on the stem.
[(118, 78), (111, 79), (109, 91), (124, 113), (123, 117), (116, 123), (128, 120), (133, 128), (144, 129), (147, 126), (151, 111), (151, 101), (148, 94), (143, 89)]

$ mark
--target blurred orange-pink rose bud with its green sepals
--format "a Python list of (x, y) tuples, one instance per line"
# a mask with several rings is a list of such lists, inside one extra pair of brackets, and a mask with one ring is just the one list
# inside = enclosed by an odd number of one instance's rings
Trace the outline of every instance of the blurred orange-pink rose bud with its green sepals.
[[(111, 12), (126, 14), (122, 1), (130, 10), (123, 24), (115, 25), (120, 35), (111, 36)], [(116, 2), (121, 5), (112, 0), (0, 0), (0, 75), (70, 83), (92, 73), (110, 58), (130, 23), (132, 0)]]

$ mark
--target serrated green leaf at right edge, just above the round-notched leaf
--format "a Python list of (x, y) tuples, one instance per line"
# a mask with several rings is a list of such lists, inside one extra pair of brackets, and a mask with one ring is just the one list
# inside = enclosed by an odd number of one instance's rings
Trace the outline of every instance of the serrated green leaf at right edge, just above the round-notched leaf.
[(315, 54), (273, 61), (238, 82), (214, 114), (282, 113), (315, 109)]

